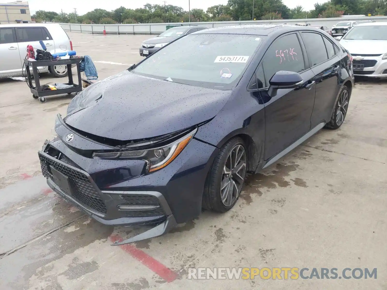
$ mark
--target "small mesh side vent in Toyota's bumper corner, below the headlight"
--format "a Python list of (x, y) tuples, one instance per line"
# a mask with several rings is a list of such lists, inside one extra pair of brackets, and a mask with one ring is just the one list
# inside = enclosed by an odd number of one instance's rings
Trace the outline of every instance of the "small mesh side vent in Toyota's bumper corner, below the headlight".
[(158, 215), (165, 215), (156, 196), (122, 195), (122, 199), (125, 200), (125, 205), (158, 206), (158, 208), (154, 210), (127, 211), (128, 217), (155, 217)]

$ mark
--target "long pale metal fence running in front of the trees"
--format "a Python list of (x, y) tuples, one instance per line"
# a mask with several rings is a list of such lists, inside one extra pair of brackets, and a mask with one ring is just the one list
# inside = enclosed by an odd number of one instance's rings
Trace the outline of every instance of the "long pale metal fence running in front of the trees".
[(221, 27), (241, 24), (296, 24), (309, 23), (311, 26), (327, 26), (329, 29), (339, 21), (375, 20), (387, 22), (387, 16), (373, 17), (339, 17), (317, 19), (289, 19), (289, 20), (255, 20), (255, 21), (220, 21), (220, 22), (190, 22), (190, 23), (152, 23), (152, 24), (69, 24), (60, 25), (66, 31), (83, 32), (92, 34), (160, 34), (166, 31), (167, 25), (197, 25), (202, 27)]

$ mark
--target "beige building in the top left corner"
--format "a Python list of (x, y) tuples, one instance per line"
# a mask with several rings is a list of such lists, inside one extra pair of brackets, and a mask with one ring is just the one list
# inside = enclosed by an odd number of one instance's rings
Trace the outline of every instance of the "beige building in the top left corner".
[(0, 24), (31, 23), (28, 2), (0, 3)]

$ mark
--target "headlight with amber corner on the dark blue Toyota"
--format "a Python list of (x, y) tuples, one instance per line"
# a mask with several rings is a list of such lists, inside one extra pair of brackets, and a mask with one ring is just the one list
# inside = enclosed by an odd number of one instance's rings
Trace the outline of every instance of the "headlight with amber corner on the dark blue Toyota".
[(170, 164), (194, 137), (197, 128), (164, 147), (137, 151), (95, 152), (93, 157), (102, 159), (140, 159), (148, 163), (148, 172), (154, 172)]

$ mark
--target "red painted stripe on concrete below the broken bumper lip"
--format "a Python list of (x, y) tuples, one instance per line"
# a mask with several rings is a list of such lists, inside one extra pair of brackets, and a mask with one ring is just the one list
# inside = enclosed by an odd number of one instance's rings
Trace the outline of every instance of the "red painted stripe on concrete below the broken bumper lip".
[[(111, 235), (110, 241), (120, 241), (122, 242), (123, 239), (119, 235)], [(140, 261), (144, 266), (152, 270), (154, 273), (159, 275), (161, 278), (163, 278), (165, 281), (172, 282), (175, 281), (178, 278), (178, 275), (172, 271), (170, 268), (164, 266), (156, 259), (152, 258), (145, 252), (141, 251), (140, 249), (137, 249), (133, 244), (125, 244), (119, 246), (121, 249), (123, 249), (125, 252), (130, 254), (133, 258)]]

